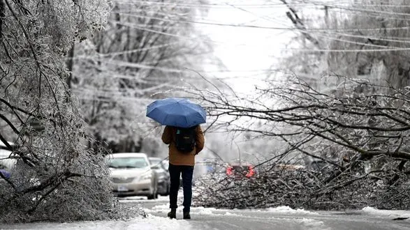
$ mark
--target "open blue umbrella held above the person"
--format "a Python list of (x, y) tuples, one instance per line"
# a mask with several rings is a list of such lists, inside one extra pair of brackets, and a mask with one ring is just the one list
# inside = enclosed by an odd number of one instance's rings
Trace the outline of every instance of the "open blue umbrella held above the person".
[(166, 98), (148, 105), (147, 116), (161, 125), (189, 128), (206, 122), (205, 109), (185, 98)]

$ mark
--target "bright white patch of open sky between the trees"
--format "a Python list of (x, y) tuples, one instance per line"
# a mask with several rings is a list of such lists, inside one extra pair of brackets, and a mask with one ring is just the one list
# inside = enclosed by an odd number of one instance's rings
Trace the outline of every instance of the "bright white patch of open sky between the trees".
[[(222, 24), (247, 24), (252, 26), (292, 27), (286, 17), (287, 8), (279, 1), (210, 1), (212, 6), (205, 19)], [(231, 4), (229, 6), (224, 4)], [(269, 3), (269, 6), (244, 6)], [(222, 6), (220, 6), (222, 5)], [(214, 43), (214, 54), (223, 61), (230, 73), (217, 77), (235, 77), (235, 89), (247, 91), (265, 77), (265, 70), (280, 61), (284, 48), (294, 34), (277, 29), (257, 29), (218, 25), (200, 25)], [(212, 67), (210, 67), (211, 69)], [(216, 75), (216, 74), (215, 74)]]

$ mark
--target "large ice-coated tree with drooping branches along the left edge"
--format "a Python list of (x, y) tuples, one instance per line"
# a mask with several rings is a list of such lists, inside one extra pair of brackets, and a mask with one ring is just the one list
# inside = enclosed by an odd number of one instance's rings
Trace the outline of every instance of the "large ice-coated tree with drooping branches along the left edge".
[[(0, 0), (0, 141), (17, 163), (0, 174), (0, 222), (119, 218), (101, 146), (66, 85), (64, 54), (103, 29), (105, 0)], [(13, 144), (12, 144), (13, 142)]]

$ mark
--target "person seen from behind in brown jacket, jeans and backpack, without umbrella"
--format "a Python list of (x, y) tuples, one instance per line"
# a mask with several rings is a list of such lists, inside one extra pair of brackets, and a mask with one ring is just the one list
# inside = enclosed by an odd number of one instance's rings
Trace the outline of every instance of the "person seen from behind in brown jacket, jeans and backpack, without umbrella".
[(176, 218), (177, 194), (180, 189), (180, 176), (182, 174), (182, 187), (184, 189), (184, 219), (191, 219), (189, 214), (192, 203), (192, 176), (195, 165), (195, 156), (203, 150), (205, 138), (200, 128), (177, 128), (166, 125), (162, 134), (162, 141), (169, 144), (170, 172), (170, 212), (168, 217)]

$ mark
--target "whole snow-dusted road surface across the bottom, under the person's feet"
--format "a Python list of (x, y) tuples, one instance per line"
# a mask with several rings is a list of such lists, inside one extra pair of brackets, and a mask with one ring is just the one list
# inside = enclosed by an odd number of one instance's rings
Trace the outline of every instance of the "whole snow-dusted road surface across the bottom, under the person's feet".
[[(166, 217), (168, 197), (147, 200), (140, 197), (121, 199), (127, 206), (144, 208), (149, 217), (129, 221), (71, 223), (0, 224), (0, 229), (410, 229), (410, 211), (364, 208), (346, 212), (293, 210), (286, 206), (256, 210), (191, 208), (192, 220)], [(394, 220), (394, 219), (403, 220)]]

